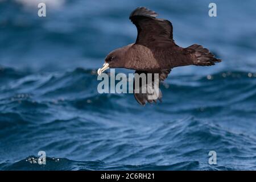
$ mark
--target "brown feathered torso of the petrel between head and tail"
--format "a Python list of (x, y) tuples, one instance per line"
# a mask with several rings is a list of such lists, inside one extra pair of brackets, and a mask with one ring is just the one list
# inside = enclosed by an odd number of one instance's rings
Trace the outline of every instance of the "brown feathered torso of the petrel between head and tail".
[(130, 44), (123, 47), (126, 49), (125, 68), (140, 71), (171, 69), (182, 65), (191, 65), (195, 57), (189, 49), (179, 46), (175, 47), (154, 47), (148, 48), (139, 44)]

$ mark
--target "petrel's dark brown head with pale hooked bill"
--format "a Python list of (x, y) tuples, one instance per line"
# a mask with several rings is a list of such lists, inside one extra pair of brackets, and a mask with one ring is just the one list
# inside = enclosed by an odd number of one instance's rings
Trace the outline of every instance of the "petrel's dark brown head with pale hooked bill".
[(109, 68), (122, 68), (125, 66), (125, 49), (119, 48), (110, 52), (105, 58), (105, 63), (102, 68), (98, 69), (98, 75), (101, 75), (106, 69)]

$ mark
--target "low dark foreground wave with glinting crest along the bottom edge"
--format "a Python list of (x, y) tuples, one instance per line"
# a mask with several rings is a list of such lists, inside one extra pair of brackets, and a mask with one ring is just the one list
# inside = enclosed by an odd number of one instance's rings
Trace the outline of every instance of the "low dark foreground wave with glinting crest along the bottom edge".
[(29, 156), (26, 159), (15, 163), (1, 163), (0, 168), (6, 171), (29, 170), (29, 171), (63, 171), (63, 170), (191, 170), (199, 166), (199, 162), (183, 162), (167, 166), (155, 166), (154, 164), (144, 165), (113, 165), (100, 160), (96, 161), (75, 161), (65, 158), (46, 158), (46, 165), (38, 164), (38, 157)]

